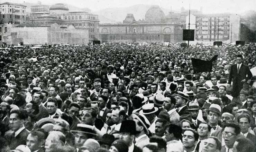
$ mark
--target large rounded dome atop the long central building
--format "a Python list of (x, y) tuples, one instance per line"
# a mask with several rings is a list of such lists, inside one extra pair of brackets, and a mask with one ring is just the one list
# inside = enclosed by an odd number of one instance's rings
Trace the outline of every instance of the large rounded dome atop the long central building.
[(151, 6), (145, 15), (145, 21), (148, 22), (161, 22), (165, 20), (165, 15), (163, 10), (157, 6)]

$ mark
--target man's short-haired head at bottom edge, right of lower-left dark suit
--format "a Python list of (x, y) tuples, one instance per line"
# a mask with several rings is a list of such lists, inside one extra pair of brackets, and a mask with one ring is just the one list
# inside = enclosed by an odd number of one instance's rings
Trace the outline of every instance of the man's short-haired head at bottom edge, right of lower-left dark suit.
[(42, 146), (44, 146), (45, 138), (45, 134), (42, 131), (33, 130), (27, 136), (26, 145), (30, 151), (39, 150)]

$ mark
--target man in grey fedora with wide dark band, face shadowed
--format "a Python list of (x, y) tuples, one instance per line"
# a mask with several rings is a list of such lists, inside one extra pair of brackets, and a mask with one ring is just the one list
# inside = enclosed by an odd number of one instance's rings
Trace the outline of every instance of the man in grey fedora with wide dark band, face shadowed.
[(189, 103), (188, 111), (192, 117), (192, 121), (194, 122), (194, 124), (191, 125), (191, 128), (195, 130), (198, 128), (199, 124), (202, 123), (202, 121), (198, 120), (197, 118), (200, 109), (201, 107), (199, 107), (197, 101), (192, 101)]

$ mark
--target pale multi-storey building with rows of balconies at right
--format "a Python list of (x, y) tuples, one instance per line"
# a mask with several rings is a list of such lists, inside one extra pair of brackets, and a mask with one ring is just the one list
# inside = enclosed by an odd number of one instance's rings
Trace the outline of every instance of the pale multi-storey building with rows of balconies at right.
[(198, 41), (239, 40), (240, 17), (232, 14), (210, 14), (196, 16), (196, 35)]

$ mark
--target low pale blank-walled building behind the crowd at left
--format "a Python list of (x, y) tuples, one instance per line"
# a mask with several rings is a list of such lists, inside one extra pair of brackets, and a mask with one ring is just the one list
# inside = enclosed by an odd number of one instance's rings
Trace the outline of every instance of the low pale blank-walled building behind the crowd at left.
[(75, 28), (73, 25), (0, 25), (0, 42), (17, 45), (37, 44), (86, 44), (89, 42), (88, 29)]

